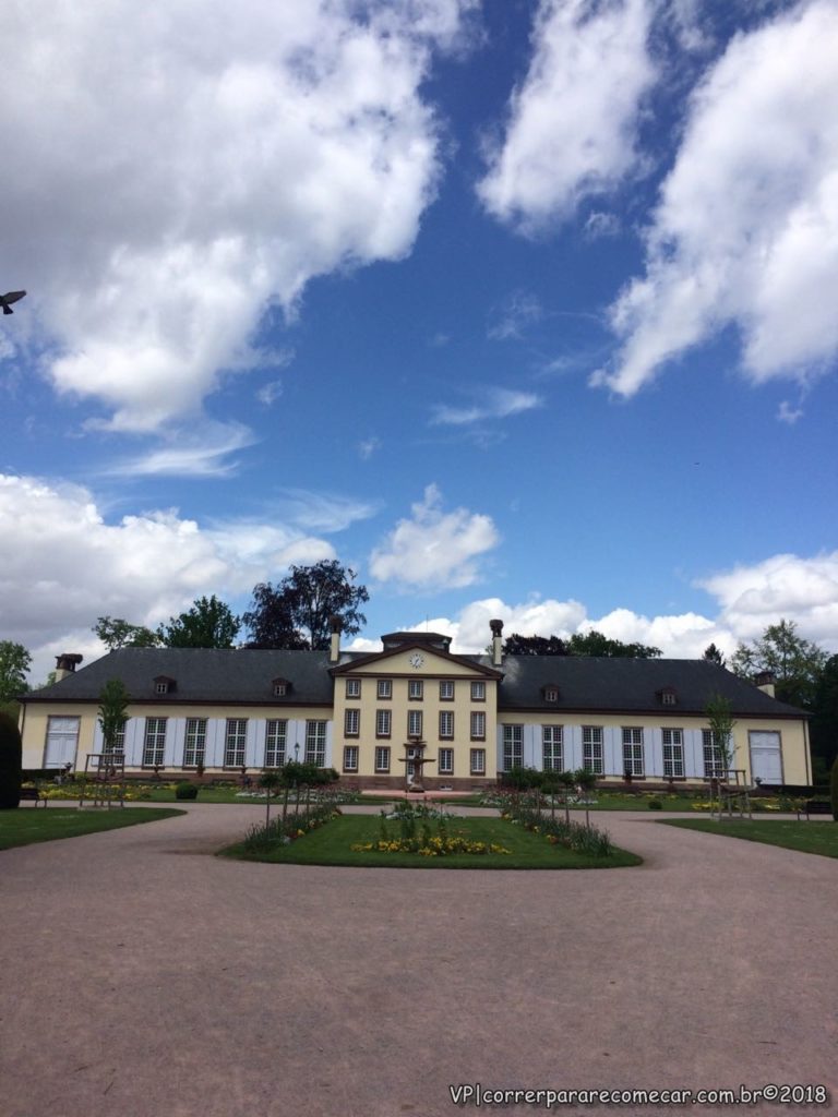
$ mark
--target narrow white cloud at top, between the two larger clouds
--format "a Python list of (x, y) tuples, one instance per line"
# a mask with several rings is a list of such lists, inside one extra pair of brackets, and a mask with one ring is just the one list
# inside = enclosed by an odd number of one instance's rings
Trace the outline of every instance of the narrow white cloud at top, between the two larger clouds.
[(636, 169), (650, 16), (647, 0), (542, 0), (530, 70), (478, 185), (492, 214), (534, 231)]

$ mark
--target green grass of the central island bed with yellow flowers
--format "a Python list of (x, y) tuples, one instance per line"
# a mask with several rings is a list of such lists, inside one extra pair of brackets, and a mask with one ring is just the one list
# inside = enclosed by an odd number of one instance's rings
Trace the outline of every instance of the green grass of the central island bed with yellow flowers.
[[(287, 846), (265, 853), (245, 851), (241, 843), (221, 850), (225, 857), (248, 861), (272, 861), (284, 865), (343, 865), (389, 869), (613, 869), (640, 865), (635, 853), (615, 849), (610, 857), (573, 853), (562, 846), (551, 846), (542, 834), (533, 834), (501, 819), (449, 819), (451, 836), (472, 841), (497, 843), (508, 855), (457, 853), (449, 857), (422, 857), (419, 853), (382, 853), (351, 847), (375, 842), (380, 836), (380, 818), (373, 814), (343, 814), (318, 830)], [(396, 836), (398, 828), (391, 824)]]

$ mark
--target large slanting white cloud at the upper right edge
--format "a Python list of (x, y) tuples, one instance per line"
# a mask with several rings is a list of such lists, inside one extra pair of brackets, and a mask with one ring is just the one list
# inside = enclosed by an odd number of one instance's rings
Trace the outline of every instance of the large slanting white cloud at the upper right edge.
[(625, 338), (593, 383), (631, 395), (729, 324), (759, 383), (838, 351), (838, 7), (799, 4), (739, 35), (692, 97), (647, 238), (611, 309)]

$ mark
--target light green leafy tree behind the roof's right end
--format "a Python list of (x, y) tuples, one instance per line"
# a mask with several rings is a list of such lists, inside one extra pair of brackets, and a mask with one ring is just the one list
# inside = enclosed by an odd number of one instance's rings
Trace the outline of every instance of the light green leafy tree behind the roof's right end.
[(759, 640), (740, 643), (731, 667), (745, 679), (771, 671), (777, 697), (808, 709), (812, 706), (827, 658), (827, 652), (817, 643), (798, 636), (794, 621), (781, 620), (778, 624), (769, 624)]

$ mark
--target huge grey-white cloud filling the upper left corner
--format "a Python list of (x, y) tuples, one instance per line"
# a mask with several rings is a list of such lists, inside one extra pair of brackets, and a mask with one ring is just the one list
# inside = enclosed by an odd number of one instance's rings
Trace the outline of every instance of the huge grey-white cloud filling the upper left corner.
[(121, 430), (196, 411), (306, 283), (411, 248), (422, 101), (475, 0), (30, 0), (0, 23), (3, 266), (45, 367)]

